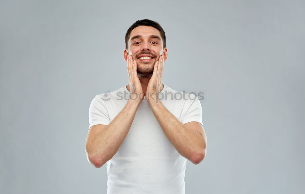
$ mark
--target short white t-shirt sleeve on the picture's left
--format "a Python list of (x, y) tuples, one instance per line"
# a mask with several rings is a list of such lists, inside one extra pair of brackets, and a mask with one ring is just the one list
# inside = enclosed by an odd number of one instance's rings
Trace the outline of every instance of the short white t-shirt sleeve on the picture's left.
[(110, 119), (106, 103), (97, 95), (93, 98), (89, 107), (89, 129), (93, 125), (109, 125), (109, 123)]

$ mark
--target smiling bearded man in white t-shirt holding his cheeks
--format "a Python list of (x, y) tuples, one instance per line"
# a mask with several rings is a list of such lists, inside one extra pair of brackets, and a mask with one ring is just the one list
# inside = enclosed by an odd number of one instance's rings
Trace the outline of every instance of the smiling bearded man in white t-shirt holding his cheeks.
[(108, 194), (185, 193), (186, 160), (206, 155), (198, 97), (161, 82), (165, 40), (159, 23), (136, 21), (125, 36), (129, 84), (90, 104), (85, 150), (96, 168), (107, 163)]

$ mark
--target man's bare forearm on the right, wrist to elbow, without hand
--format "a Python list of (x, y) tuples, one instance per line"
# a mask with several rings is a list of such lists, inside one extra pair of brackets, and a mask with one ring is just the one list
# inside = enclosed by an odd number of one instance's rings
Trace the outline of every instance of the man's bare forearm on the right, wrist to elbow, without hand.
[(190, 161), (205, 150), (203, 136), (183, 125), (167, 108), (158, 101), (150, 101), (150, 108), (159, 122), (164, 134), (181, 154)]

